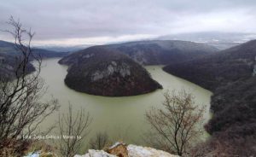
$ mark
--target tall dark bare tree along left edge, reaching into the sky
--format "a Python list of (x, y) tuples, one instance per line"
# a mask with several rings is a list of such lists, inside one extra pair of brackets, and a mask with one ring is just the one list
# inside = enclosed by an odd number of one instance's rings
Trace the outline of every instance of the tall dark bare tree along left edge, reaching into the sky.
[[(10, 17), (9, 32), (15, 39), (15, 57), (12, 79), (0, 76), (0, 148), (6, 141), (30, 135), (38, 125), (58, 108), (56, 100), (40, 102), (46, 91), (40, 78), (42, 60), (32, 53), (34, 33), (22, 27), (19, 20)], [(34, 61), (34, 72), (30, 61)], [(22, 139), (21, 139), (22, 140)]]

